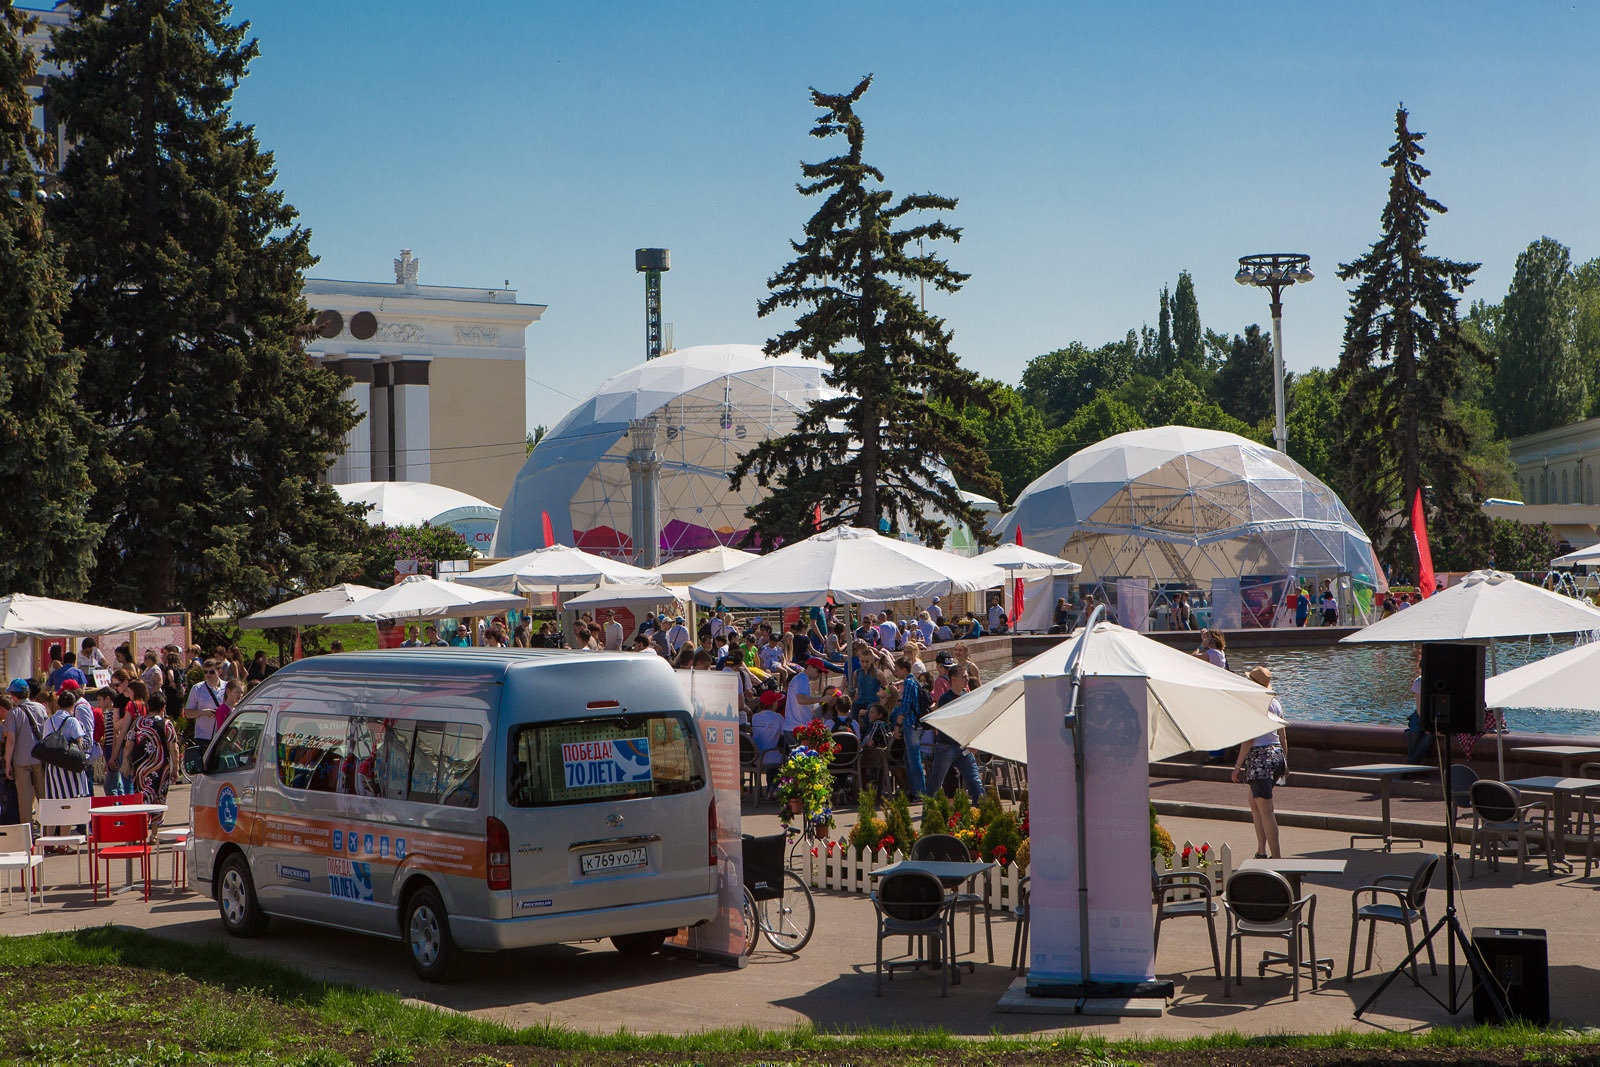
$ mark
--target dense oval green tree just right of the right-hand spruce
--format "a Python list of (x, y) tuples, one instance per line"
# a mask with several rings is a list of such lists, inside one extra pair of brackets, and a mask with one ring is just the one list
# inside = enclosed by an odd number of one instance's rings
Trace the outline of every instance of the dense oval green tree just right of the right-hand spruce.
[(1499, 323), (1494, 419), (1507, 437), (1566, 426), (1587, 411), (1586, 368), (1574, 344), (1573, 270), (1549, 237), (1517, 256)]

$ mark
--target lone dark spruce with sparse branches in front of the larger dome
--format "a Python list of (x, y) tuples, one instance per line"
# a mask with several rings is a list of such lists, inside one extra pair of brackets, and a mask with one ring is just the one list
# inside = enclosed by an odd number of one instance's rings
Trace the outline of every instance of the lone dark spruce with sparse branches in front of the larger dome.
[(802, 163), (805, 197), (824, 197), (790, 242), (795, 259), (774, 274), (757, 310), (800, 309), (792, 330), (766, 342), (768, 355), (798, 352), (827, 362), (824, 381), (840, 390), (800, 416), (792, 434), (762, 442), (734, 467), (738, 488), (746, 477), (771, 488), (747, 512), (763, 537), (795, 539), (821, 528), (864, 526), (890, 533), (910, 530), (942, 545), (949, 534), (939, 515), (966, 523), (979, 534), (982, 517), (957, 486), (941, 478), (942, 461), (963, 488), (998, 496), (984, 442), (963, 422), (968, 406), (997, 411), (992, 386), (963, 370), (950, 350), (944, 320), (918, 306), (912, 283), (955, 293), (965, 274), (918, 242), (960, 240), (962, 232), (928, 213), (949, 211), (955, 200), (917, 194), (894, 202), (883, 173), (862, 155), (866, 131), (856, 102), (872, 85), (850, 93), (811, 90), (822, 109), (811, 136), (843, 138), (840, 155)]

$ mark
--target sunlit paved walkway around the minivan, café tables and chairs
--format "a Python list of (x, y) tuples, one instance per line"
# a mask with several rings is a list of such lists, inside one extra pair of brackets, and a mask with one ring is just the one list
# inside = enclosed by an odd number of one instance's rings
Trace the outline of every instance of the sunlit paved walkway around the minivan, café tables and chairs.
[[(1200, 797), (1202, 787), (1157, 785), (1155, 795)], [(1242, 787), (1222, 784), (1219, 797), (1237, 801)], [(1338, 790), (1283, 790), (1283, 806), (1302, 805), (1312, 813), (1360, 808), (1370, 801), (1360, 793)], [(1221, 819), (1168, 816), (1163, 824), (1178, 840), (1229, 843), (1235, 854), (1254, 849), (1248, 824)], [(746, 819), (750, 832), (771, 832), (776, 819), (757, 814)], [(1360, 1022), (1352, 1009), (1378, 984), (1386, 968), (1405, 953), (1398, 929), (1379, 929), (1374, 969), (1360, 974), (1354, 985), (1344, 982), (1346, 950), (1350, 934), (1350, 889), (1378, 873), (1408, 873), (1421, 853), (1416, 848), (1384, 854), (1370, 848), (1350, 849), (1349, 835), (1330, 830), (1286, 827), (1285, 849), (1291, 854), (1344, 857), (1347, 873), (1320, 880), (1317, 893), (1317, 950), (1338, 960), (1334, 982), (1317, 992), (1302, 990), (1290, 1000), (1288, 979), (1251, 977), (1232, 997), (1211, 974), (1211, 953), (1205, 926), (1195, 920), (1173, 921), (1162, 931), (1157, 973), (1178, 984), (1178, 995), (1160, 1019), (1083, 1019), (1053, 1016), (997, 1014), (995, 1003), (1011, 982), (1006, 966), (1014, 923), (997, 917), (995, 963), (979, 960), (976, 974), (939, 997), (938, 976), (901, 973), (885, 984), (883, 997), (874, 995), (874, 912), (864, 896), (816, 894), (818, 933), (798, 957), (758, 952), (746, 969), (726, 969), (670, 957), (630, 960), (608, 944), (554, 945), (475, 957), (472, 966), (451, 985), (429, 985), (413, 977), (398, 944), (358, 934), (328, 931), (302, 923), (275, 920), (256, 941), (229, 941), (238, 953), (272, 958), (320, 977), (392, 990), (402, 997), (440, 1008), (466, 1011), (510, 1025), (557, 1022), (584, 1030), (613, 1030), (619, 1025), (643, 1032), (693, 1032), (709, 1027), (755, 1025), (789, 1027), (816, 1024), (824, 1029), (859, 1027), (946, 1027), (952, 1033), (981, 1037), (989, 1032), (1050, 1032), (1072, 1029), (1106, 1037), (1186, 1037), (1219, 1030), (1246, 1033), (1328, 1032), (1338, 1029), (1419, 1030), (1432, 1025), (1472, 1021), (1470, 1008), (1448, 1017), (1410, 982), (1397, 982)], [(70, 881), (72, 861), (50, 861), (51, 880)], [(1462, 867), (1466, 862), (1462, 861)], [(1579, 873), (1582, 867), (1579, 865)], [(120, 877), (120, 872), (118, 872)], [(1555, 1019), (1566, 1025), (1600, 1025), (1600, 875), (1547, 878), (1542, 869), (1518, 880), (1515, 864), (1499, 873), (1467, 881), (1461, 894), (1462, 925), (1534, 926), (1552, 933), (1550, 995)], [(1430, 917), (1443, 909), (1443, 893), (1430, 893)], [(152, 929), (163, 936), (197, 944), (226, 941), (216, 909), (194, 894), (173, 896), (165, 889), (144, 904), (138, 894), (122, 894), (112, 904), (94, 905), (86, 891), (51, 891), (48, 904), (32, 917), (19, 902), (0, 912), (0, 931), (35, 933), (118, 923)], [(1221, 933), (1221, 923), (1219, 923)], [(960, 944), (965, 947), (965, 933)], [(979, 931), (982, 944), (982, 931)], [(1246, 968), (1259, 949), (1246, 949)], [(1443, 971), (1443, 955), (1440, 955)], [(1360, 960), (1358, 960), (1360, 961)], [(1445, 976), (1424, 984), (1443, 995)]]

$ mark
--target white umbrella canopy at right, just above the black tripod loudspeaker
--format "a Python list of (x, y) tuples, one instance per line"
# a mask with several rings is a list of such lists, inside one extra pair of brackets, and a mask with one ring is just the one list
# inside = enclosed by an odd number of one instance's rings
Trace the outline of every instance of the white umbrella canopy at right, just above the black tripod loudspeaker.
[(1581, 600), (1520, 582), (1501, 571), (1472, 571), (1459, 585), (1342, 638), (1360, 641), (1480, 641), (1600, 629), (1600, 611)]

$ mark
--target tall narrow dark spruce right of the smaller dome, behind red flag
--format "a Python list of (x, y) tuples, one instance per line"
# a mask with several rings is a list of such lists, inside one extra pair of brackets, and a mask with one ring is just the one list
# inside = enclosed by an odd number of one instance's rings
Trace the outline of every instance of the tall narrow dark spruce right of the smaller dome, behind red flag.
[(1456, 293), (1478, 264), (1429, 256), (1429, 214), (1445, 206), (1422, 192), (1421, 133), (1395, 110), (1395, 142), (1384, 158), (1389, 202), (1382, 235), (1355, 262), (1341, 264), (1357, 280), (1344, 323), (1344, 350), (1333, 387), (1342, 437), (1341, 488), (1350, 512), (1381, 544), (1389, 563), (1410, 566), (1413, 542), (1403, 523), (1418, 488), (1429, 486), (1430, 523), (1488, 555), (1488, 523), (1467, 464), (1467, 434), (1450, 398), (1461, 389), (1466, 360), (1490, 357), (1461, 333)]

